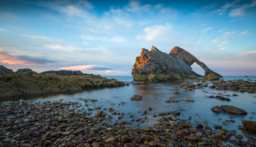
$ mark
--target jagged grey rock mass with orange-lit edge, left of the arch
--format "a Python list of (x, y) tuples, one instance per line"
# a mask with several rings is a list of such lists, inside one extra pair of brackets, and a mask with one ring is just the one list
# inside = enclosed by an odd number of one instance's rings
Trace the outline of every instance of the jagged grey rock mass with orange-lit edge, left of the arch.
[(154, 46), (151, 51), (142, 48), (141, 55), (136, 57), (133, 65), (132, 75), (134, 80), (150, 82), (201, 77), (181, 60), (159, 51)]

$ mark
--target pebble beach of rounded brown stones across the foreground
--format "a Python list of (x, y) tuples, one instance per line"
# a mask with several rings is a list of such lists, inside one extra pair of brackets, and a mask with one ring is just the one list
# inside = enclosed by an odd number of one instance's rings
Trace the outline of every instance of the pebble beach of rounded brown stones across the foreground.
[[(1, 103), (0, 146), (32, 147), (229, 147), (256, 146), (256, 139), (241, 134), (214, 128), (196, 122), (191, 118), (178, 119), (178, 111), (159, 113), (154, 126), (132, 128), (134, 122), (145, 122), (149, 108), (141, 112), (140, 118), (133, 114), (119, 113), (118, 110), (101, 108), (97, 100), (80, 99), (80, 102), (18, 102)], [(84, 102), (84, 106), (81, 102)], [(94, 109), (88, 106), (94, 106)], [(97, 112), (92, 113), (92, 110)], [(117, 120), (113, 120), (118, 115)], [(131, 115), (130, 120), (122, 120)], [(112, 117), (113, 116), (113, 117)], [(136, 120), (135, 120), (136, 119)], [(244, 124), (245, 123), (245, 124)], [(254, 126), (252, 125), (254, 123)], [(255, 122), (243, 122), (244, 126), (255, 127)], [(253, 127), (252, 127), (253, 126)], [(247, 128), (247, 127), (246, 127)], [(234, 136), (234, 138), (233, 138)]]

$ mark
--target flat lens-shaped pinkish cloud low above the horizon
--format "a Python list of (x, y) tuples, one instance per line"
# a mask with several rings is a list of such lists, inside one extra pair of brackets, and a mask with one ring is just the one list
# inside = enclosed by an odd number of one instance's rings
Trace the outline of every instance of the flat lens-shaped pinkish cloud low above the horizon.
[(70, 67), (60, 67), (59, 69), (65, 70), (107, 70), (112, 71), (116, 70), (116, 67), (106, 66), (106, 65), (78, 65)]

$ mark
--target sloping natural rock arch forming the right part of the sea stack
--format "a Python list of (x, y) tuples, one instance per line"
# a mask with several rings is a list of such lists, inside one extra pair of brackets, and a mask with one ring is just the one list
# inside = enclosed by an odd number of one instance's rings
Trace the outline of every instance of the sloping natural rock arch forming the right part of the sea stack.
[[(219, 78), (222, 78), (222, 76), (214, 71), (212, 71), (210, 68), (208, 68), (206, 66), (206, 64), (204, 64), (203, 62), (199, 61), (198, 59), (196, 59), (195, 56), (193, 56), (191, 53), (189, 53), (188, 51), (185, 51), (185, 49), (182, 49), (180, 47), (174, 47), (171, 52), (169, 53), (169, 55), (180, 59), (181, 61), (183, 61), (184, 63), (186, 63), (187, 65), (189, 65), (189, 67), (195, 62), (198, 65), (200, 65), (203, 69), (204, 69), (204, 76), (207, 76), (208, 74), (214, 74)], [(207, 79), (208, 80), (208, 79)], [(211, 80), (211, 79), (209, 79)], [(215, 80), (215, 79), (214, 79)]]

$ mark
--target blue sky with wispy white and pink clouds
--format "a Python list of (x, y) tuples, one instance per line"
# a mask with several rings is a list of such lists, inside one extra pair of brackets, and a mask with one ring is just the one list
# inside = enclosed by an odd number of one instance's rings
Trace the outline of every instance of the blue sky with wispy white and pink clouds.
[(256, 0), (1, 0), (0, 65), (131, 76), (142, 48), (178, 46), (223, 76), (256, 76), (255, 26)]

